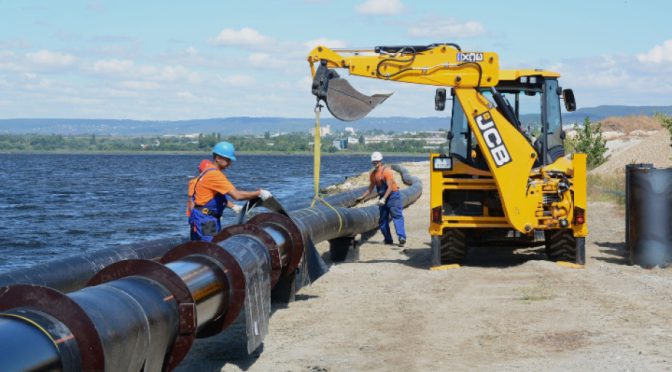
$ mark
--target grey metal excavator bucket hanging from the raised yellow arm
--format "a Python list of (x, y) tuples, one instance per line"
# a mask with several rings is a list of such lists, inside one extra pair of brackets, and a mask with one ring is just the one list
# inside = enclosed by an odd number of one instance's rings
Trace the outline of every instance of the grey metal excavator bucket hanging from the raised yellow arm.
[(383, 103), (389, 94), (367, 96), (355, 90), (347, 80), (334, 70), (320, 64), (313, 78), (313, 94), (326, 102), (331, 115), (343, 121), (354, 121), (365, 117), (376, 106)]

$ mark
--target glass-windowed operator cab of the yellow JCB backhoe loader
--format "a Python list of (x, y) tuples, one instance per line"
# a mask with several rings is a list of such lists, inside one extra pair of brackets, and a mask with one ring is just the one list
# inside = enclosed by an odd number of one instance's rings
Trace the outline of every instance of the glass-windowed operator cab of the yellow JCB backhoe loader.
[[(550, 164), (565, 154), (560, 110), (563, 90), (558, 84), (558, 77), (559, 74), (549, 71), (503, 70), (496, 89), (480, 90), (535, 148), (539, 155), (535, 166)], [(571, 94), (571, 91), (568, 92)], [(571, 102), (566, 103), (575, 107), (573, 95)], [(453, 98), (450, 130), (450, 153), (475, 168), (487, 169), (456, 98)]]

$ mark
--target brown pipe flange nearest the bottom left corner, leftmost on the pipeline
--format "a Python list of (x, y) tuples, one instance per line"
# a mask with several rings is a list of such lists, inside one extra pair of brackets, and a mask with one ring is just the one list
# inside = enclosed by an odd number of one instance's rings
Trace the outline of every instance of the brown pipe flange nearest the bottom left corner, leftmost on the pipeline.
[(103, 345), (93, 321), (65, 293), (29, 284), (0, 288), (0, 311), (20, 307), (50, 315), (70, 330), (79, 348), (82, 370), (105, 369)]

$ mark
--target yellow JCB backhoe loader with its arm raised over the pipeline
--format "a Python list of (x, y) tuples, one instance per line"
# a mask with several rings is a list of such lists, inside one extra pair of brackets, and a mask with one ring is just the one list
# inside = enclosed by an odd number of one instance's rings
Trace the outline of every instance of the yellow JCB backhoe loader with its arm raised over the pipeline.
[(462, 51), (452, 43), (318, 46), (308, 62), (313, 94), (340, 120), (360, 119), (390, 95), (361, 94), (336, 69), (439, 86), (439, 111), (452, 99), (449, 149), (430, 154), (433, 265), (460, 263), (469, 246), (543, 244), (551, 260), (584, 264), (586, 155), (565, 154), (560, 100), (567, 111), (576, 103), (572, 90), (560, 87), (559, 74), (500, 70), (496, 53)]

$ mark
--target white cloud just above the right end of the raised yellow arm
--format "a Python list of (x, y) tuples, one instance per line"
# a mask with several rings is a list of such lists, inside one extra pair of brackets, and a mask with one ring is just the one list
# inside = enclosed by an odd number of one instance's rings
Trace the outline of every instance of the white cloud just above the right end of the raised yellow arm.
[(416, 38), (451, 39), (476, 37), (485, 34), (485, 27), (475, 21), (460, 22), (456, 19), (427, 19), (420, 26), (408, 29), (408, 35)]

